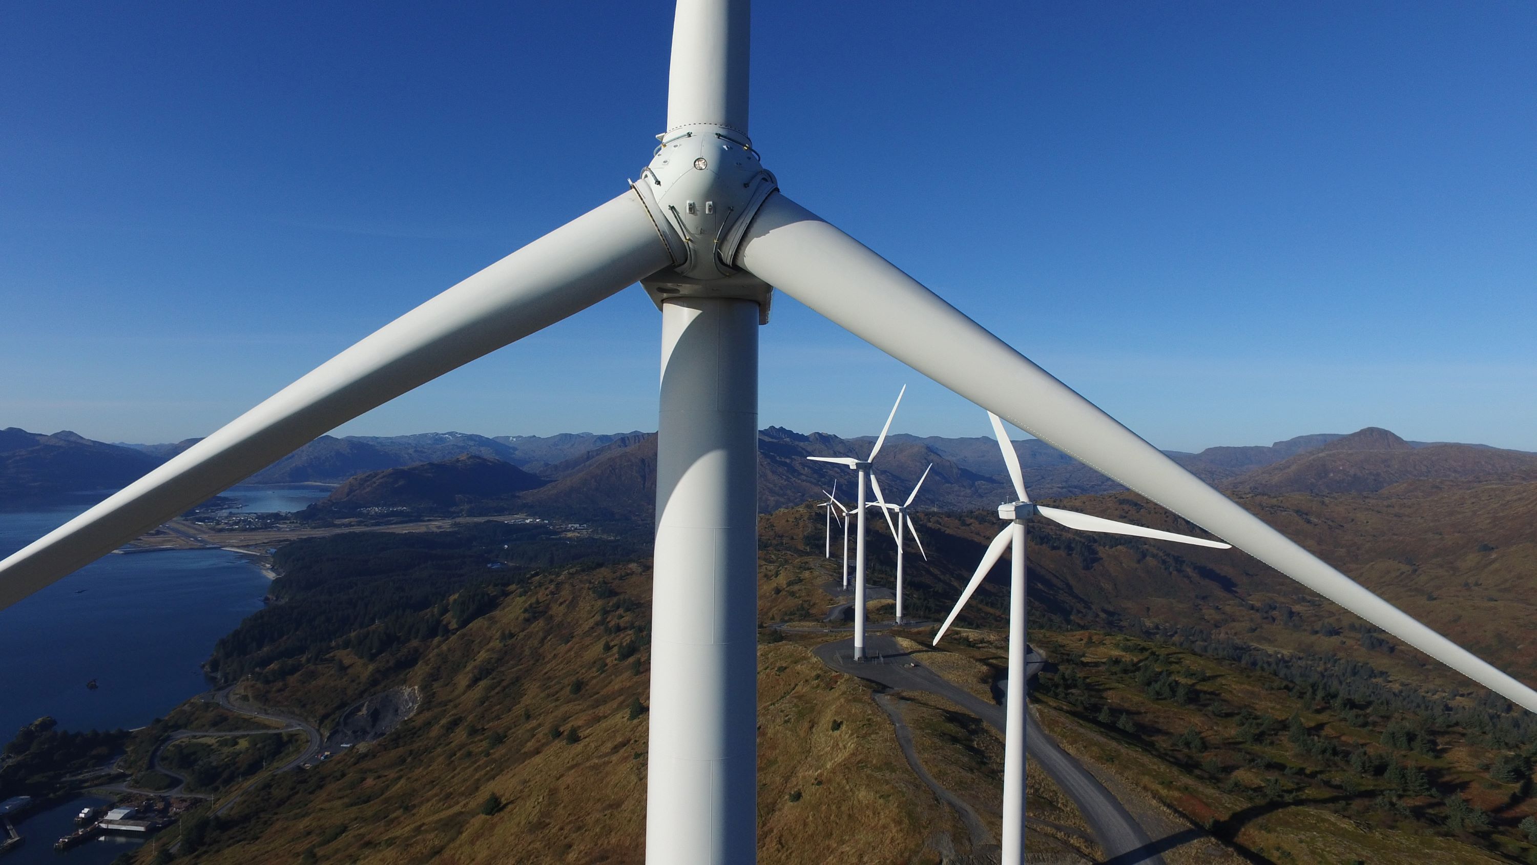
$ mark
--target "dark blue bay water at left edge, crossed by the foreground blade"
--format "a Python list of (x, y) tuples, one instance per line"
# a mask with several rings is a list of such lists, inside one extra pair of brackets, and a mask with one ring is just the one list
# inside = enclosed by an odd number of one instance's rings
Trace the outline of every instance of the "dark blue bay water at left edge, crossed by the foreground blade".
[[(92, 502), (0, 512), (0, 558)], [(198, 665), (267, 585), (224, 550), (109, 555), (0, 610), (0, 741), (43, 714), (72, 730), (140, 727), (207, 690)]]

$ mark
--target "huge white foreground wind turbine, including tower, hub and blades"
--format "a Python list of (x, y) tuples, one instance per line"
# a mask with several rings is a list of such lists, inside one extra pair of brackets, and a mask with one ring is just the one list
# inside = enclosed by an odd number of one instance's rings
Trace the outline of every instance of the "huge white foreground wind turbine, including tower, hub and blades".
[[(778, 289), (1431, 658), (1537, 710), (1537, 691), (1323, 564), (779, 192), (747, 134), (749, 17), (749, 0), (678, 0), (667, 126), (641, 180), (406, 312), (0, 561), (0, 608), (338, 424), (641, 283), (661, 309), (662, 333), (646, 856), (653, 865), (753, 862), (758, 326), (767, 321), (770, 293)], [(536, 158), (549, 146), (592, 146), (561, 135), (552, 131), (523, 155)], [(891, 195), (907, 201), (896, 183)], [(921, 207), (911, 217), (933, 218)]]

